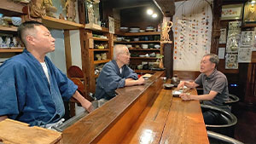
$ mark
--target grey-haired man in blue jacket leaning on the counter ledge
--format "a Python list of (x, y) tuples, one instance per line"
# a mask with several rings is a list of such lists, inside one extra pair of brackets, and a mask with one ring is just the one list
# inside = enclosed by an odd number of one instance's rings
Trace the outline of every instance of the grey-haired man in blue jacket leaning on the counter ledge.
[(96, 83), (96, 99), (110, 100), (115, 96), (115, 89), (125, 86), (144, 84), (144, 78), (138, 78), (137, 73), (127, 66), (130, 53), (125, 45), (117, 44), (113, 47), (113, 60), (102, 68)]

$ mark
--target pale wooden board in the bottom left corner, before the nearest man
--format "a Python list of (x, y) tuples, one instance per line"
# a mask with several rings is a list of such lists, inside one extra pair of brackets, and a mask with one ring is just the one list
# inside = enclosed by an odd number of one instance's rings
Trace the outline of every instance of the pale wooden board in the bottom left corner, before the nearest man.
[(12, 119), (0, 122), (0, 143), (22, 144), (62, 144), (61, 133), (38, 126), (28, 126)]

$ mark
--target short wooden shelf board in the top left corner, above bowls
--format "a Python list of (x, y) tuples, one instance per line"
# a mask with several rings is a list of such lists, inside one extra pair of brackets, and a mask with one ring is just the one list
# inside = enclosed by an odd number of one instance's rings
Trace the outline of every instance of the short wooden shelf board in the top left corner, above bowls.
[(12, 14), (27, 14), (26, 4), (14, 3), (11, 0), (1, 0), (0, 9), (9, 11)]

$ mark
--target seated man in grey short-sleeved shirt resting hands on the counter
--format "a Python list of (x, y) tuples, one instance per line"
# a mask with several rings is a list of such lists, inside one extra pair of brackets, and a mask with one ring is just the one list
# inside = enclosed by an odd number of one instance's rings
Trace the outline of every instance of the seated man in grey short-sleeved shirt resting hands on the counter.
[[(201, 74), (195, 79), (195, 82), (183, 81), (178, 84), (177, 89), (184, 85), (192, 89), (200, 85), (203, 86), (204, 95), (189, 95), (183, 93), (180, 95), (183, 101), (201, 100), (203, 104), (222, 108), (230, 112), (230, 107), (224, 105), (224, 101), (228, 100), (229, 95), (228, 80), (222, 72), (217, 71), (216, 67), (218, 61), (218, 55), (204, 55), (200, 66)], [(218, 113), (203, 112), (203, 116), (206, 124), (212, 124), (218, 116)]]

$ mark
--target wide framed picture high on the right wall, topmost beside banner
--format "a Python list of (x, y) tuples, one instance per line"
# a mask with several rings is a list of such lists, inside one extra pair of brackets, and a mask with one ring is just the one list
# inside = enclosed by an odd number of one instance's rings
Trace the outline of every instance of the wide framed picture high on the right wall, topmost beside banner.
[(223, 5), (221, 10), (221, 20), (240, 20), (243, 4)]

